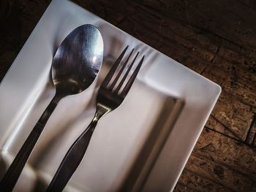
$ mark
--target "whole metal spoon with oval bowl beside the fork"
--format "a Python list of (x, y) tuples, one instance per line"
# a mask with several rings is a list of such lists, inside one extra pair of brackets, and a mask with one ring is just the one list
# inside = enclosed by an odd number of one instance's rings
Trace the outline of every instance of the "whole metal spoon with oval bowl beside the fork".
[(2, 178), (0, 191), (12, 191), (59, 101), (65, 96), (80, 93), (89, 88), (99, 73), (102, 58), (103, 40), (95, 26), (79, 26), (64, 39), (54, 55), (51, 67), (53, 84), (56, 88), (55, 96)]

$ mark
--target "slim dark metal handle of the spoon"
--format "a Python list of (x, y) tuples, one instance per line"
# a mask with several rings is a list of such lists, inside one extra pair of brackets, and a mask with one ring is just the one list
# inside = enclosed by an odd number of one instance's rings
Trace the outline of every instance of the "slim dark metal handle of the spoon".
[(42, 113), (42, 116), (37, 121), (37, 124), (32, 129), (31, 133), (29, 134), (29, 137), (26, 139), (26, 141), (23, 143), (22, 147), (20, 148), (18, 154), (15, 156), (15, 159), (12, 161), (12, 164), (10, 165), (9, 169), (7, 170), (6, 174), (4, 174), (4, 177), (1, 180), (0, 183), (0, 191), (12, 191), (15, 184), (18, 181), (18, 178), (20, 177), (20, 173), (23, 170), (23, 167), (26, 164), (26, 161), (29, 158), (29, 155), (31, 154), (34, 145), (36, 145), (37, 140), (39, 139), (39, 136), (42, 133), (42, 130), (45, 128), (45, 124), (47, 123), (48, 119), (50, 118), (51, 113), (56, 108), (56, 105), (58, 104), (60, 98), (57, 96), (54, 96), (52, 101), (50, 101), (50, 104), (46, 108), (45, 112)]

